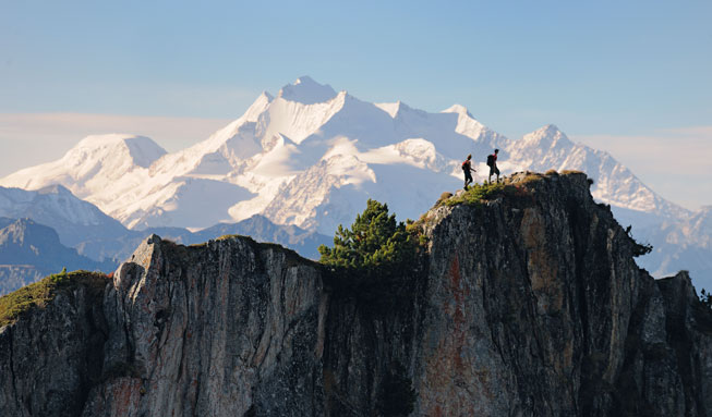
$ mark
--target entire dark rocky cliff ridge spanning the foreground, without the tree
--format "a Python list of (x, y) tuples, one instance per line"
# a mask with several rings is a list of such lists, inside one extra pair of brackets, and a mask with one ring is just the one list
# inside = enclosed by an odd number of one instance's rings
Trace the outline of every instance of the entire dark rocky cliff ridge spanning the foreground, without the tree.
[(589, 187), (578, 172), (520, 173), (500, 193), (444, 195), (412, 225), (419, 261), (373, 287), (249, 237), (153, 235), (102, 296), (75, 280), (5, 318), (0, 409), (712, 414), (712, 312), (686, 272), (636, 265)]

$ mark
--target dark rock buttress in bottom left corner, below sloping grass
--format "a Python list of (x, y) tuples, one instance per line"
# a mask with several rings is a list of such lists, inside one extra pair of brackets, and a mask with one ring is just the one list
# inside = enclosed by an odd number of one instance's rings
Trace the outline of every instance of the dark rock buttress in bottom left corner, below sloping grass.
[(101, 380), (106, 335), (101, 301), (81, 283), (0, 328), (2, 415), (79, 416)]

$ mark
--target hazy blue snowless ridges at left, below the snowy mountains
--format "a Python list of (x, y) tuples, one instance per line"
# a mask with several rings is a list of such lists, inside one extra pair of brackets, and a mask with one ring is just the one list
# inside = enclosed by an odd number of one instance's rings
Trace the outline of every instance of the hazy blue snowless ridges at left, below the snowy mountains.
[(331, 243), (328, 236), (277, 225), (258, 214), (196, 233), (181, 228), (129, 230), (61, 185), (34, 192), (0, 187), (0, 216), (4, 216), (0, 217), (0, 295), (62, 268), (110, 272), (152, 233), (185, 245), (227, 234), (249, 235), (258, 242), (279, 243), (312, 259), (318, 258), (319, 245)]

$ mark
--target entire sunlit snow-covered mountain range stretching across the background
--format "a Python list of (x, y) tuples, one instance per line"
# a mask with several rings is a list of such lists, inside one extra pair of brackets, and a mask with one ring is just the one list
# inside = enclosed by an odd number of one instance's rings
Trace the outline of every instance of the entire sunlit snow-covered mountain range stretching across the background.
[[(688, 269), (698, 285), (712, 287), (710, 210), (692, 213), (663, 199), (608, 154), (569, 140), (554, 125), (512, 140), (461, 106), (430, 113), (400, 101), (371, 103), (310, 77), (276, 96), (263, 93), (242, 116), (190, 148), (168, 154), (147, 137), (89, 136), (61, 159), (17, 171), (0, 185), (43, 193), (61, 184), (132, 232), (180, 228), (165, 231), (183, 242), (193, 236), (185, 228), (254, 214), (262, 216), (255, 223), (301, 228), (293, 232), (299, 236), (330, 236), (367, 198), (387, 203), (400, 219), (418, 218), (442, 192), (462, 186), (459, 167), (468, 154), (482, 181), (494, 148), (504, 174), (587, 172), (595, 181), (593, 196), (632, 224), (636, 238), (655, 246), (641, 266), (656, 275)], [(90, 221), (80, 223), (92, 231)], [(101, 257), (128, 253), (122, 245), (132, 238), (116, 246), (69, 244)]]

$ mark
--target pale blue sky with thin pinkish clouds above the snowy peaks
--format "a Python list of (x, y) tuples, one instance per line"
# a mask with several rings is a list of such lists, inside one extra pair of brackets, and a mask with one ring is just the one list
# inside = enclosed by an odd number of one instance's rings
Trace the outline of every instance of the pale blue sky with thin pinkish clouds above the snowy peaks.
[(366, 101), (553, 123), (712, 205), (712, 2), (0, 0), (0, 176), (88, 134), (205, 139), (302, 75)]

